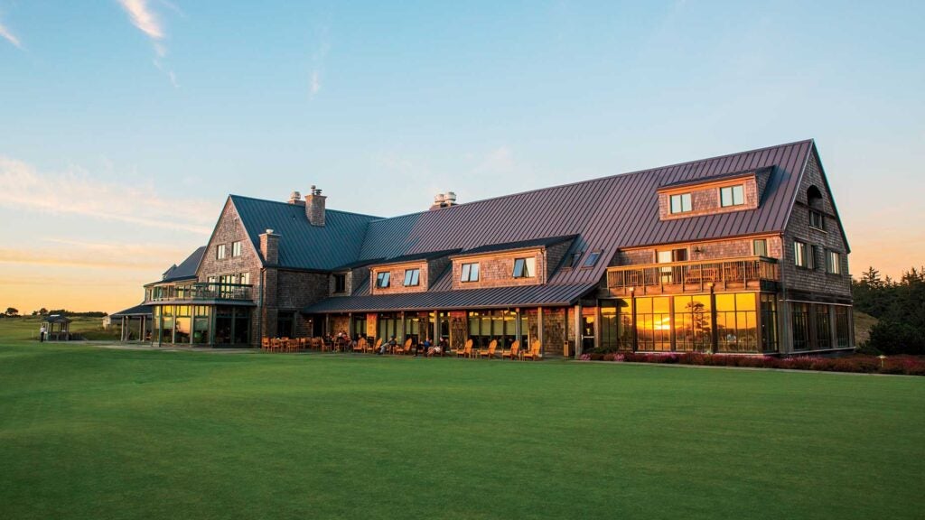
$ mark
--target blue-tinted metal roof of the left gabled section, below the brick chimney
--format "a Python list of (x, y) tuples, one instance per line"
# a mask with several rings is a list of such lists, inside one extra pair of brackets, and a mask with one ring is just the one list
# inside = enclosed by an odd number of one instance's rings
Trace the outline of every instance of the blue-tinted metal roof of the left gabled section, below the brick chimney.
[[(316, 227), (305, 217), (305, 206), (230, 195), (241, 224), (260, 251), (260, 234), (273, 229), (279, 234), (278, 266), (333, 270), (357, 260), (371, 217), (327, 209), (325, 226)], [(383, 256), (373, 254), (369, 257)]]

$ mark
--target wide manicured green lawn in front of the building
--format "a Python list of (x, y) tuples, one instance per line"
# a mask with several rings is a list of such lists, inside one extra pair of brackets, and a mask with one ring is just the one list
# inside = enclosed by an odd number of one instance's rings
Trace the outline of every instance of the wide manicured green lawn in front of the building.
[(5, 519), (925, 505), (925, 378), (0, 343)]

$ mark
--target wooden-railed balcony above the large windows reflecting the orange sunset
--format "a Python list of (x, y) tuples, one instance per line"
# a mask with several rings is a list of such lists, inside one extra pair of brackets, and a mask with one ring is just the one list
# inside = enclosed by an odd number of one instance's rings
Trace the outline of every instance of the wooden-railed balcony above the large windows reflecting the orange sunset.
[(774, 291), (781, 279), (777, 260), (764, 256), (607, 269), (611, 296), (714, 291)]

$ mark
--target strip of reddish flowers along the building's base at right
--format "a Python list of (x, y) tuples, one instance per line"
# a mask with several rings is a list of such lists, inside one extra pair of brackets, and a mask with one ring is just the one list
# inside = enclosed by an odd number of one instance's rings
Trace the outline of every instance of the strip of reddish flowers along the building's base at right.
[(925, 359), (914, 356), (852, 355), (848, 357), (773, 357), (768, 355), (728, 355), (710, 353), (590, 353), (581, 361), (615, 361), (629, 363), (666, 363), (676, 365), (748, 366), (785, 368), (825, 372), (859, 372), (866, 374), (905, 374), (925, 376)]

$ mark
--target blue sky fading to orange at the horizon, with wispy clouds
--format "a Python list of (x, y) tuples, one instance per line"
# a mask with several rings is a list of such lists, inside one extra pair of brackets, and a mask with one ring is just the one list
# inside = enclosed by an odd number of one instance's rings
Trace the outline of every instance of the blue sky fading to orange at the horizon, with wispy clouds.
[[(925, 264), (922, 2), (0, 0), (0, 307), (117, 312), (229, 193), (383, 217), (813, 138)], [(2, 310), (0, 309), (0, 310)]]

